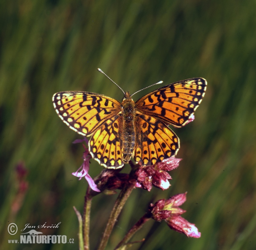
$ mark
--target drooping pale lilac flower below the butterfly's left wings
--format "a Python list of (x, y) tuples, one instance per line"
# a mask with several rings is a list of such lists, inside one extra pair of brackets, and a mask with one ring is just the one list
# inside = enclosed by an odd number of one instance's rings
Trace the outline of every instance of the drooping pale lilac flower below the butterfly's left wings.
[[(74, 142), (76, 143), (76, 142)], [(83, 144), (84, 146), (84, 144)], [(74, 173), (72, 173), (74, 176), (79, 177), (79, 180), (81, 180), (82, 177), (85, 178), (85, 180), (87, 180), (89, 186), (91, 189), (93, 189), (96, 192), (100, 192), (100, 190), (97, 188), (97, 185), (94, 183), (93, 178), (90, 177), (90, 175), (88, 174), (89, 171), (89, 160), (91, 158), (91, 155), (89, 153), (88, 148), (86, 148), (84, 146), (84, 154), (83, 154), (83, 158), (84, 158), (84, 163), (81, 165), (81, 167)], [(79, 170), (82, 169), (80, 172)]]

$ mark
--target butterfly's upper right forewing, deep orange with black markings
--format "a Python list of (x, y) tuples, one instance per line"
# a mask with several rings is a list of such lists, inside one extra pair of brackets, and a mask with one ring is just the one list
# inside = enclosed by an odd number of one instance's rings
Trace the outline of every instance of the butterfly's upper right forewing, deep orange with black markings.
[(180, 128), (189, 122), (206, 91), (204, 78), (191, 78), (160, 87), (136, 102), (142, 113)]

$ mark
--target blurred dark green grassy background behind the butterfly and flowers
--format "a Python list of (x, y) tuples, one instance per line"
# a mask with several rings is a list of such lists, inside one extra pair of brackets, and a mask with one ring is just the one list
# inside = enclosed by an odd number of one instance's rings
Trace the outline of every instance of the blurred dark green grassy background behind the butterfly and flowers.
[[(250, 0), (19, 0), (0, 2), (0, 248), (78, 249), (78, 222), (87, 183), (71, 175), (82, 163), (82, 138), (58, 118), (52, 95), (84, 90), (122, 99), (163, 80), (208, 81), (195, 121), (174, 129), (183, 158), (172, 186), (136, 189), (108, 249), (148, 204), (188, 192), (183, 215), (201, 238), (186, 238), (165, 222), (148, 222), (131, 249), (256, 249), (256, 3)], [(139, 99), (156, 87), (134, 96)], [(20, 191), (17, 164), (27, 169)], [(102, 166), (91, 160), (90, 175)], [(24, 181), (23, 180), (23, 181)], [(96, 249), (117, 195), (93, 199), (91, 249)], [(8, 244), (15, 222), (58, 229), (75, 244)]]

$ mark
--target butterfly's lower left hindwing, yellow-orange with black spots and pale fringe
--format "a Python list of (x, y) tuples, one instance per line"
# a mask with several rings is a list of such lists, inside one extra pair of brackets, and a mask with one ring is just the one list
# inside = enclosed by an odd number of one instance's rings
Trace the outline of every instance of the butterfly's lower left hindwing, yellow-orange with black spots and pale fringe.
[(93, 158), (108, 169), (119, 169), (123, 163), (122, 115), (116, 115), (92, 135), (89, 150)]

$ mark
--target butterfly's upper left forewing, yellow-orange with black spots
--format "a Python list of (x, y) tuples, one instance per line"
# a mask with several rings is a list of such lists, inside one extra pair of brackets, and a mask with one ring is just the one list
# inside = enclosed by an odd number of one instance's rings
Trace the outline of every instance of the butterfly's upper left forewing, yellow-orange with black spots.
[(121, 111), (121, 104), (115, 99), (83, 91), (55, 93), (52, 102), (63, 122), (83, 136), (93, 134)]

